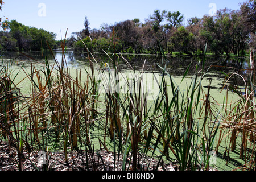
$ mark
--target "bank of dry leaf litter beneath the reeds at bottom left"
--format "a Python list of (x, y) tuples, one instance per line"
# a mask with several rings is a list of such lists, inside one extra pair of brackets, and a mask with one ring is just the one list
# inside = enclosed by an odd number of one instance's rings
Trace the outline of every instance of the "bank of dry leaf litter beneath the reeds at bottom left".
[[(121, 171), (122, 170), (122, 158), (118, 160), (118, 156), (114, 160), (114, 154), (107, 152), (106, 150), (100, 150), (97, 152), (89, 152), (88, 162), (86, 161), (86, 152), (80, 151), (68, 153), (67, 162), (65, 162), (64, 152), (51, 152), (46, 154), (46, 165), (43, 164), (43, 160), (39, 156), (39, 151), (28, 153), (23, 151), (22, 167), (24, 171)], [(128, 158), (128, 160), (131, 160)], [(142, 160), (142, 159), (139, 159)], [(114, 163), (114, 161), (116, 163)], [(127, 163), (131, 162), (127, 161)], [(141, 162), (140, 162), (141, 163)], [(150, 164), (148, 167), (147, 164)], [(144, 159), (144, 169), (156, 170), (158, 162), (154, 159)], [(127, 165), (128, 170), (132, 170), (132, 165)], [(126, 170), (127, 170), (126, 168)], [(141, 166), (137, 166), (138, 170), (141, 170)], [(7, 143), (0, 143), (0, 171), (18, 171), (18, 152), (15, 148), (10, 147)], [(161, 162), (158, 171), (176, 171), (177, 166), (175, 163), (163, 163)]]

